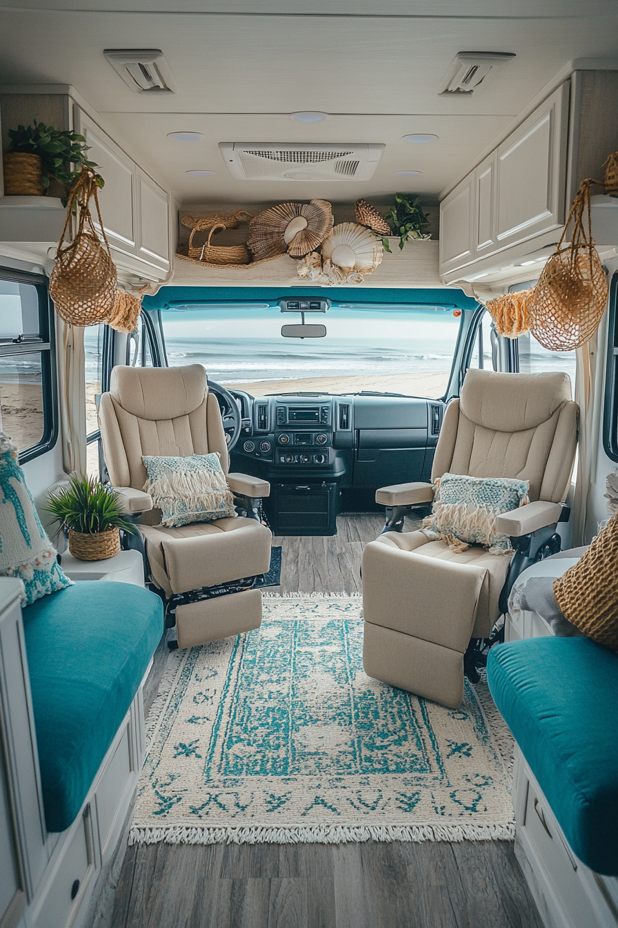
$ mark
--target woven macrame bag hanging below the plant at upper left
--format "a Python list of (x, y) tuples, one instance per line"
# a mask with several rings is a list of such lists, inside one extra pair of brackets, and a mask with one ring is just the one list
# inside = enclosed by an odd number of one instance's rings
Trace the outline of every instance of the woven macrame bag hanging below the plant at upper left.
[[(69, 194), (67, 221), (58, 244), (56, 263), (49, 277), (49, 292), (58, 316), (74, 326), (95, 326), (107, 322), (116, 303), (116, 267), (111, 260), (97, 197), (96, 174), (82, 167)], [(99, 238), (90, 200), (95, 200), (96, 215), (103, 240)], [(77, 209), (78, 222), (74, 238), (65, 244), (71, 216)]]

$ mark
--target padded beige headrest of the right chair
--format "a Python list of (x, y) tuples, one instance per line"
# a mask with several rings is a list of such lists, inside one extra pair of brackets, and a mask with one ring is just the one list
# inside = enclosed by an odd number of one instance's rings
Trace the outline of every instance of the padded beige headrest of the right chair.
[(495, 432), (535, 429), (571, 399), (567, 374), (498, 374), (469, 370), (460, 395), (466, 419)]

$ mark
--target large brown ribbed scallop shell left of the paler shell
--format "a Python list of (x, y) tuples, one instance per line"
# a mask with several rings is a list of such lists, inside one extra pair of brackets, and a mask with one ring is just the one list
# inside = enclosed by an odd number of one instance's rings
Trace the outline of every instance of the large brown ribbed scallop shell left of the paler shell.
[(327, 200), (280, 203), (249, 223), (247, 245), (256, 260), (288, 252), (293, 258), (315, 251), (333, 228), (333, 209)]

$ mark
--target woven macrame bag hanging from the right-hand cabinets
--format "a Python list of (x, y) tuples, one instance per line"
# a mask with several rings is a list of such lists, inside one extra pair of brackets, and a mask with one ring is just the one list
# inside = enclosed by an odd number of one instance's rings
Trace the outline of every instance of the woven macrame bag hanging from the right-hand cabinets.
[[(573, 351), (586, 344), (607, 304), (607, 279), (591, 230), (592, 183), (589, 178), (582, 181), (558, 249), (543, 268), (528, 305), (532, 333), (549, 351)], [(570, 226), (571, 243), (562, 247)]]

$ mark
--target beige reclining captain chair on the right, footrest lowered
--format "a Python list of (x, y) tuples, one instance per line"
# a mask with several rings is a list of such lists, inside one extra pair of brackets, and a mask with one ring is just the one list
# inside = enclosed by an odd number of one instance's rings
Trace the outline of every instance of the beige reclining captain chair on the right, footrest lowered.
[[(444, 473), (529, 480), (530, 504), (498, 516), (498, 532), (511, 536), (515, 554), (475, 545), (456, 554), (423, 530), (386, 531), (367, 545), (363, 661), (370, 677), (452, 708), (460, 704), (471, 638), (488, 638), (525, 567), (560, 550), (555, 529), (573, 470), (577, 418), (566, 374), (468, 371), (460, 399), (445, 411), (432, 481)], [(390, 523), (402, 524), (404, 509), (431, 502), (432, 485), (387, 486), (375, 499), (396, 513)]]

